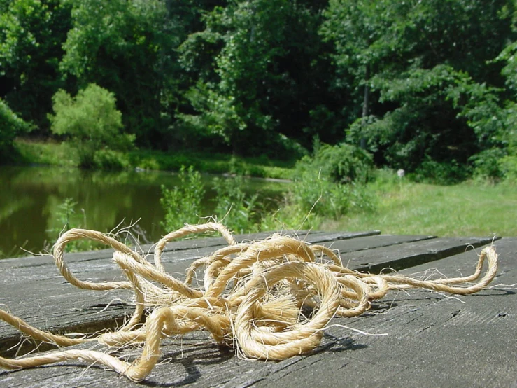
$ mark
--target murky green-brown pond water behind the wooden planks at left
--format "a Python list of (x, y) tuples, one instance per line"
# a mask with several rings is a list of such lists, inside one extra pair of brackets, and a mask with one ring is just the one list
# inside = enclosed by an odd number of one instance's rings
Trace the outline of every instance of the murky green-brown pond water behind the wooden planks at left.
[[(202, 216), (212, 215), (215, 206), (214, 178), (202, 175), (206, 187)], [(144, 240), (156, 242), (165, 233), (160, 225), (164, 218), (161, 185), (173, 188), (178, 183), (171, 172), (0, 166), (0, 258), (23, 255), (20, 247), (34, 253), (50, 249), (64, 228), (67, 198), (75, 203), (74, 212), (69, 212), (73, 226), (110, 232), (139, 220), (136, 228), (144, 233)], [(283, 182), (251, 178), (245, 186), (262, 201), (281, 198), (288, 188)]]

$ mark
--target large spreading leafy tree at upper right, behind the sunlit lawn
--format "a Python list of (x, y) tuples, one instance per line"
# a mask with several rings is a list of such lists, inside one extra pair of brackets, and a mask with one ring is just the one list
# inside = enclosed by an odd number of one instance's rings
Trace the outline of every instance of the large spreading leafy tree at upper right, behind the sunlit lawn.
[(364, 139), (378, 163), (409, 171), (466, 164), (490, 133), (471, 125), (465, 98), (490, 104), (503, 85), (490, 61), (511, 38), (512, 9), (509, 0), (331, 1), (322, 34), (362, 104), (348, 141)]

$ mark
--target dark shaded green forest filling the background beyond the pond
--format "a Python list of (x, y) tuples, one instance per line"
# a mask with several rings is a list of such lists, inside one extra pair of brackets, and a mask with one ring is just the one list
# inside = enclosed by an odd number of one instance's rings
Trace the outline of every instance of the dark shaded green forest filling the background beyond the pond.
[(0, 159), (19, 136), (277, 159), (348, 143), (378, 167), (514, 178), (516, 8), (0, 0)]

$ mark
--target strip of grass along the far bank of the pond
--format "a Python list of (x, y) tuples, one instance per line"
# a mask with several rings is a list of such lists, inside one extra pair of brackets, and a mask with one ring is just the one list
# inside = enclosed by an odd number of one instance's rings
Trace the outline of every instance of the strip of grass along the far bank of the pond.
[[(77, 167), (76, 151), (64, 143), (17, 139), (15, 161), (25, 165), (58, 165)], [(115, 155), (117, 155), (115, 153)], [(182, 166), (193, 166), (199, 172), (212, 174), (240, 174), (271, 179), (291, 179), (295, 160), (284, 162), (267, 158), (241, 158), (223, 153), (192, 151), (160, 152), (134, 150), (118, 153), (120, 165), (130, 169), (178, 171)]]

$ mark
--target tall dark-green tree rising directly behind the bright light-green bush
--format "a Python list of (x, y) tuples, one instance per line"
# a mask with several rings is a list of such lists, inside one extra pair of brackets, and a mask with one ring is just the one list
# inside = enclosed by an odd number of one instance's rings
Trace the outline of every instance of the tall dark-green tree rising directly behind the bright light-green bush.
[(174, 21), (164, 1), (65, 0), (70, 29), (60, 68), (80, 87), (97, 83), (117, 97), (127, 132), (142, 146), (160, 146), (167, 126), (162, 112), (171, 103), (178, 46)]

